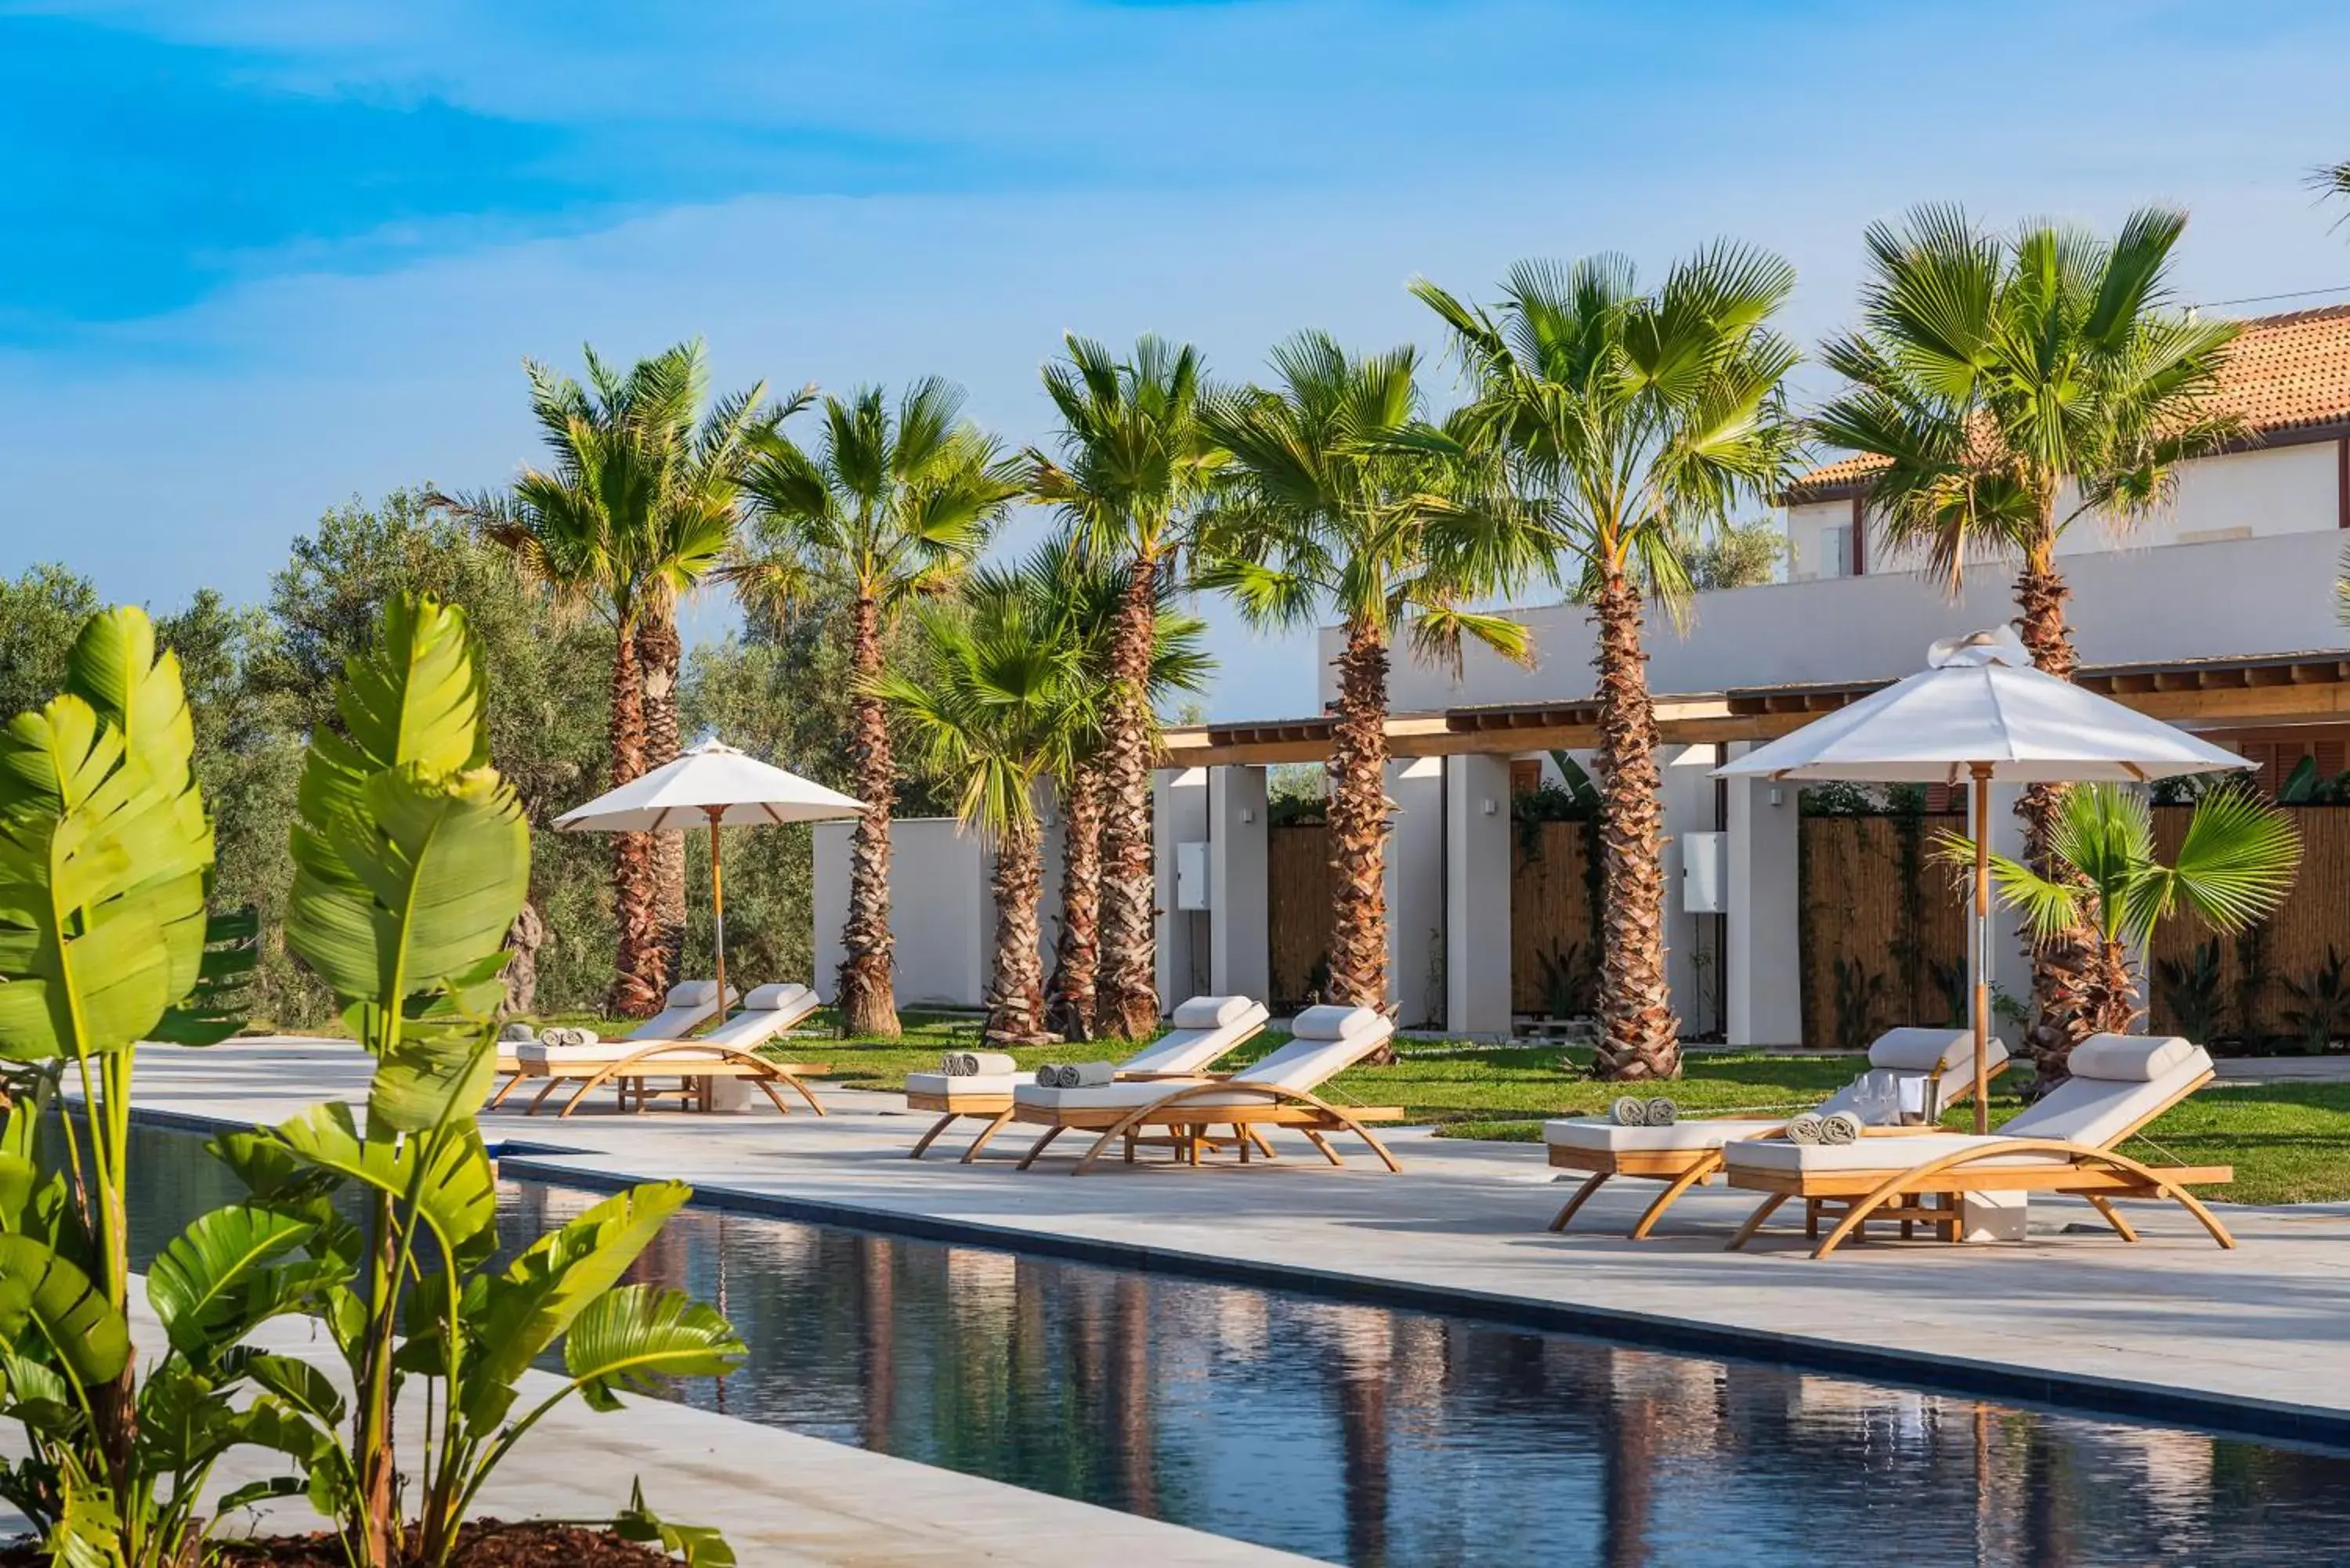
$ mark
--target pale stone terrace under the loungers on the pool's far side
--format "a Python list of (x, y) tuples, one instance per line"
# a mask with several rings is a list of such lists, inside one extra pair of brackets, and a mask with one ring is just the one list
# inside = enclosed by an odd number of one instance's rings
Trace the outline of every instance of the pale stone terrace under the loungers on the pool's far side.
[[(364, 1077), (357, 1048), (334, 1041), (150, 1048), (139, 1098), (157, 1112), (266, 1121), (315, 1098), (357, 1098)], [(2169, 1206), (2129, 1206), (2146, 1239), (2127, 1246), (2087, 1206), (2042, 1199), (2023, 1244), (1871, 1244), (1814, 1262), (1800, 1227), (1725, 1253), (1753, 1199), (1723, 1190), (1690, 1194), (1657, 1239), (1631, 1244), (1622, 1229), (1654, 1187), (1610, 1187), (1574, 1234), (1551, 1237), (1544, 1225), (1565, 1187), (1528, 1145), (1403, 1131), (1403, 1175), (1361, 1157), (1332, 1171), (1288, 1140), (1276, 1166), (1137, 1164), (1072, 1178), (1072, 1161), (1055, 1157), (1076, 1135), (1029, 1173), (1010, 1168), (1027, 1145), (1020, 1128), (975, 1166), (956, 1164), (954, 1133), (909, 1161), (926, 1114), (860, 1091), (825, 1091), (825, 1119), (776, 1117), (761, 1100), (728, 1117), (494, 1112), (486, 1128), (494, 1140), (576, 1150), (510, 1164), (526, 1175), (684, 1178), (707, 1199), (794, 1218), (1253, 1279), (1281, 1272), (1396, 1305), (1471, 1302), (1542, 1326), (1617, 1324), (1711, 1354), (2350, 1441), (2350, 1215), (2338, 1211), (2223, 1206), (2242, 1244), (2223, 1253)]]

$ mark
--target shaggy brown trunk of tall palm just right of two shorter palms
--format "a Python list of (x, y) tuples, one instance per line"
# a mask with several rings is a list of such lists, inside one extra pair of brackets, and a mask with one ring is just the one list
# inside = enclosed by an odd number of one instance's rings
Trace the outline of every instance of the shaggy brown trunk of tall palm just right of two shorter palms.
[(1119, 1039), (1159, 1032), (1159, 886), (1152, 865), (1152, 642), (1159, 562), (1140, 557), (1109, 632), (1102, 715), (1102, 971), (1095, 1025)]

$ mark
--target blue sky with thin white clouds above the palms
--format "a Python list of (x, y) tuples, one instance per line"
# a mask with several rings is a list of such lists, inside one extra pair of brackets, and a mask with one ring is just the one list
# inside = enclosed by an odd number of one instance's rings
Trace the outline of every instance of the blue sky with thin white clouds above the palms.
[[(1434, 346), (1408, 277), (1528, 254), (1770, 244), (1817, 339), (1918, 200), (2176, 200), (2197, 299), (2350, 284), (2345, 56), (2261, 2), (0, 0), (0, 574), (256, 597), (327, 505), (510, 475), (580, 341), (938, 371), (1025, 442), (1065, 329)], [(1311, 708), (1309, 644), (1217, 644), (1213, 712)]]

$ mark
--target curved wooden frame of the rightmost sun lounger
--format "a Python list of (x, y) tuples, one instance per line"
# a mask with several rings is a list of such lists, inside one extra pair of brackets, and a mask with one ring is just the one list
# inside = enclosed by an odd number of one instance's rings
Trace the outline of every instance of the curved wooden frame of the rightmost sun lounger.
[[(2110, 1145), (2068, 1143), (2061, 1138), (2000, 1138), (1993, 1133), (1981, 1138), (1976, 1147), (1901, 1168), (1732, 1171), (1732, 1185), (1767, 1197), (1746, 1218), (1739, 1234), (1730, 1239), (1730, 1248), (1746, 1246), (1762, 1229), (1762, 1222), (1788, 1199), (1802, 1199), (1805, 1237), (1819, 1241), (1812, 1248), (1812, 1258), (1828, 1258), (1856, 1234), (1866, 1239), (1871, 1220), (1899, 1220), (1904, 1237), (1911, 1234), (1913, 1225), (1925, 1225), (1939, 1232), (1943, 1241), (1955, 1241), (1962, 1225), (1960, 1199), (1969, 1192), (2070, 1192), (2084, 1197), (2122, 1241), (2136, 1241), (2138, 1232), (2113, 1208), (2115, 1199), (2169, 1199), (2195, 1215), (2218, 1246), (2232, 1248), (2235, 1237), (2228, 1234), (2228, 1227), (2188, 1192), (2188, 1187), (2216, 1187), (2235, 1180), (2232, 1166), (2148, 1166), (2115, 1152), (2117, 1145), (2209, 1084), (2211, 1077), (2211, 1072), (2204, 1072), (2190, 1081), (2171, 1100), (2138, 1117)], [(1873, 1131), (1908, 1133), (1913, 1128)], [(1932, 1128), (1915, 1131), (1932, 1133)], [(1887, 1154), (1899, 1147), (1899, 1140), (1887, 1143)], [(2044, 1159), (2023, 1166), (1995, 1164), (2019, 1154)], [(1828, 1215), (1838, 1215), (1838, 1225), (1821, 1237), (1819, 1225)]]

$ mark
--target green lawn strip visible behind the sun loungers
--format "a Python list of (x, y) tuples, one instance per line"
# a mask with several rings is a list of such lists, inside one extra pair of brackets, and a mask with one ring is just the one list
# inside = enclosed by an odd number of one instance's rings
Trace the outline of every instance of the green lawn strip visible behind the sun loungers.
[[(606, 1032), (625, 1032), (618, 1020), (588, 1016), (550, 1018)], [(787, 1041), (771, 1056), (830, 1065), (830, 1079), (855, 1088), (902, 1088), (907, 1072), (938, 1065), (947, 1046), (971, 1048), (968, 1018), (907, 1011), (907, 1034), (895, 1041), (827, 1039), (832, 1013), (806, 1027), (813, 1037)], [(1227, 1067), (1255, 1060), (1288, 1037), (1267, 1032), (1227, 1058)], [(1048, 1046), (1013, 1051), (1022, 1067), (1048, 1060), (1123, 1056), (1112, 1046)], [(1560, 1046), (1457, 1046), (1403, 1041), (1394, 1067), (1356, 1067), (1337, 1079), (1337, 1093), (1363, 1105), (1401, 1105), (1410, 1121), (1434, 1121), (1443, 1138), (1495, 1138), (1537, 1143), (1544, 1117), (1605, 1112), (1622, 1093), (1586, 1072), (1591, 1053)], [(1690, 1053), (1671, 1098), (1687, 1114), (1800, 1110), (1845, 1084), (1859, 1063), (1849, 1056), (1755, 1056)], [(2021, 1110), (2012, 1093), (1993, 1093), (1993, 1121)], [(1972, 1128), (1972, 1112), (1950, 1112), (1946, 1124)], [(2232, 1164), (2228, 1199), (2240, 1204), (2315, 1204), (2350, 1199), (2350, 1084), (2261, 1084), (2207, 1088), (2148, 1128), (2146, 1138), (2183, 1164)], [(2143, 1152), (2143, 1143), (2136, 1145)]]

